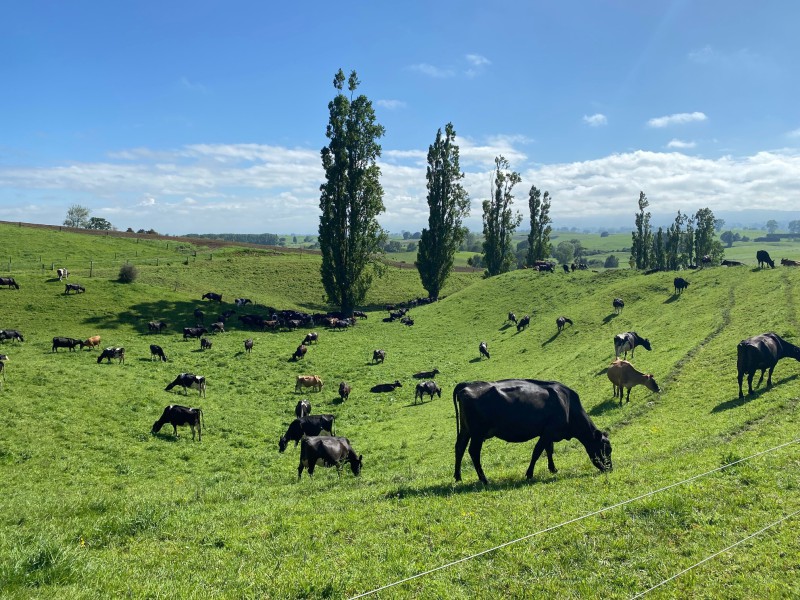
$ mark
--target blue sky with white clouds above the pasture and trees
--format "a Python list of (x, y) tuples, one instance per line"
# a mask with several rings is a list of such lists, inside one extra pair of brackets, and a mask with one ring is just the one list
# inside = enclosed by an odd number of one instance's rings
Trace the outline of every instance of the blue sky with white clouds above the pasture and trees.
[(385, 126), (390, 231), (427, 223), (450, 121), (481, 227), (494, 157), (559, 224), (797, 210), (800, 3), (6, 3), (0, 219), (78, 203), (161, 233), (315, 233), (333, 75)]

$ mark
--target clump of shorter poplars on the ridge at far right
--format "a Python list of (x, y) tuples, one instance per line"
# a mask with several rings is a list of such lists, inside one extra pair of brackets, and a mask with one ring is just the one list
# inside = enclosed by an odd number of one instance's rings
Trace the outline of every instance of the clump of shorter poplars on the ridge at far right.
[(678, 211), (666, 231), (659, 227), (654, 232), (646, 210), (649, 205), (645, 193), (639, 192), (636, 229), (631, 234), (632, 268), (677, 271), (696, 265), (703, 257), (708, 257), (711, 263), (722, 260), (725, 251), (715, 238), (715, 231), (723, 222), (714, 217), (710, 208), (701, 208), (691, 216)]

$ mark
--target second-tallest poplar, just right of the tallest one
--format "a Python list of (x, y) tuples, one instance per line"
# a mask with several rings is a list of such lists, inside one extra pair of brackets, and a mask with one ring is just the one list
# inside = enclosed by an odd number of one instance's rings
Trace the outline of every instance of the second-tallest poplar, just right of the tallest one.
[(461, 226), (469, 214), (469, 195), (461, 185), (464, 173), (458, 164), (456, 131), (452, 123), (436, 132), (428, 148), (428, 228), (422, 230), (417, 270), (429, 298), (438, 298), (453, 268), (453, 257), (464, 239)]

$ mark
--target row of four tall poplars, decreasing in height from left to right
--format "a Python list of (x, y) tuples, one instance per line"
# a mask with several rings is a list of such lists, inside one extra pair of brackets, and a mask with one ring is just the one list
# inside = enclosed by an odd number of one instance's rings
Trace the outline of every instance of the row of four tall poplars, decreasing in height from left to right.
[[(344, 87), (347, 85), (345, 93)], [(333, 80), (336, 96), (328, 104), (328, 145), (322, 151), (325, 183), (320, 186), (319, 245), (322, 252), (322, 284), (328, 302), (351, 315), (363, 303), (373, 278), (381, 274), (386, 233), (377, 217), (385, 209), (378, 139), (385, 132), (375, 119), (372, 102), (356, 95), (360, 81), (355, 71), (345, 78), (340, 69)], [(456, 132), (452, 123), (436, 133), (428, 148), (428, 227), (422, 230), (416, 266), (428, 297), (438, 298), (464, 239), (464, 217), (469, 196), (461, 184)], [(521, 222), (511, 210), (513, 187), (519, 173), (509, 169), (502, 156), (495, 159), (492, 193), (483, 203), (486, 275), (510, 270), (515, 255), (511, 237)], [(550, 255), (549, 194), (535, 187), (530, 192), (531, 234), (528, 262)]]

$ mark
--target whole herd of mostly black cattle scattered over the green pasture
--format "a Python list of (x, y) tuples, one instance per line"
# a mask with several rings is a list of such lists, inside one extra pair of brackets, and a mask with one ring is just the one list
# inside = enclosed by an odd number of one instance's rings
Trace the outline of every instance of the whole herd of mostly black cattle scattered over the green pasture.
[[(759, 266), (768, 265), (774, 268), (775, 264), (764, 251), (759, 251), (757, 255)], [(723, 264), (725, 264), (723, 262)], [(800, 266), (800, 262), (781, 260), (782, 265)], [(727, 266), (736, 266), (733, 261), (728, 261)], [(574, 269), (573, 269), (574, 270)], [(59, 281), (68, 277), (66, 269), (59, 269)], [(689, 286), (689, 282), (682, 277), (674, 279), (674, 293), (680, 294)], [(0, 278), (0, 285), (7, 285), (9, 288), (20, 289), (19, 284), (13, 278)], [(67, 284), (65, 294), (70, 291), (85, 291), (83, 286), (78, 284)], [(203, 294), (202, 299), (212, 302), (222, 303), (222, 295), (214, 292)], [(428, 300), (425, 299), (425, 302)], [(411, 305), (423, 302), (422, 299), (412, 301)], [(235, 305), (242, 308), (252, 301), (246, 298), (237, 298)], [(612, 308), (619, 314), (624, 308), (625, 303), (621, 298), (614, 298)], [(408, 304), (400, 307), (387, 307), (389, 317), (384, 321), (396, 319), (406, 319), (406, 324), (413, 324), (413, 320), (407, 314)], [(356, 311), (351, 318), (337, 313), (325, 313), (309, 315), (297, 311), (278, 311), (267, 307), (268, 317), (256, 314), (240, 315), (240, 324), (246, 327), (275, 330), (294, 330), (302, 326), (324, 325), (330, 329), (346, 329), (356, 324), (356, 317), (367, 318), (363, 312)], [(211, 332), (222, 333), (225, 331), (225, 321), (235, 314), (229, 310), (218, 315), (217, 320), (211, 324)], [(196, 325), (183, 329), (183, 339), (199, 338), (201, 349), (210, 349), (211, 342), (204, 337), (209, 330), (203, 325), (205, 315), (203, 311), (194, 311)], [(513, 312), (508, 314), (508, 321), (516, 324), (517, 331), (522, 332), (530, 323), (530, 316), (525, 315), (522, 319), (517, 319)], [(560, 334), (564, 327), (573, 321), (565, 316), (556, 319), (557, 332)], [(163, 333), (168, 325), (164, 321), (150, 321), (147, 328), (151, 333)], [(0, 341), (15, 340), (24, 342), (23, 335), (15, 329), (0, 329)], [(297, 347), (289, 360), (299, 361), (304, 358), (308, 351), (308, 345), (319, 340), (317, 332), (307, 333), (303, 342)], [(97, 348), (100, 345), (100, 336), (93, 336), (86, 340), (70, 337), (54, 337), (52, 340), (52, 352), (57, 352), (59, 348), (66, 348), (75, 351), (77, 347)], [(627, 390), (626, 401), (630, 400), (631, 389), (637, 385), (642, 385), (652, 392), (660, 392), (660, 387), (656, 383), (652, 374), (638, 371), (631, 362), (628, 362), (628, 353), (631, 360), (637, 347), (645, 350), (652, 350), (650, 341), (642, 337), (636, 331), (627, 331), (614, 336), (614, 361), (608, 366), (606, 373), (612, 384), (614, 398), (619, 398), (622, 405), (623, 396)], [(253, 349), (253, 339), (244, 341), (245, 352), (249, 353)], [(490, 359), (490, 354), (486, 342), (481, 342), (478, 347), (479, 358)], [(150, 345), (151, 359), (167, 361), (166, 353), (157, 344)], [(622, 356), (623, 358), (620, 358)], [(781, 358), (794, 358), (800, 361), (800, 347), (795, 346), (786, 340), (781, 339), (775, 333), (764, 333), (742, 340), (737, 346), (737, 379), (739, 385), (739, 397), (743, 397), (742, 384), (745, 375), (747, 376), (748, 393), (753, 392), (753, 378), (755, 373), (761, 371), (761, 377), (756, 386), (760, 386), (764, 374), (768, 370), (767, 386), (772, 385), (772, 372), (775, 365)], [(387, 352), (383, 349), (375, 349), (372, 355), (372, 364), (381, 364), (386, 361)], [(112, 359), (117, 359), (118, 363), (125, 362), (125, 348), (106, 347), (102, 350), (97, 362), (101, 363), (106, 359), (109, 363)], [(0, 374), (5, 381), (5, 362), (8, 360), (6, 354), (0, 354)], [(414, 393), (414, 403), (417, 400), (424, 402), (425, 396), (433, 400), (434, 395), (441, 397), (442, 389), (436, 383), (435, 377), (439, 374), (438, 369), (431, 371), (421, 371), (413, 375), (415, 379), (422, 379), (416, 385)], [(295, 392), (302, 393), (306, 389), (321, 392), (323, 380), (319, 375), (298, 375), (295, 380)], [(181, 387), (184, 394), (189, 389), (197, 390), (201, 397), (206, 396), (206, 379), (202, 375), (194, 373), (180, 373), (170, 382), (165, 391), (170, 391), (174, 387)], [(399, 380), (391, 383), (381, 383), (370, 388), (373, 393), (392, 392), (402, 387)], [(342, 401), (349, 398), (351, 386), (345, 381), (339, 383), (339, 396)], [(539, 381), (534, 379), (506, 379), (494, 382), (475, 381), (459, 383), (453, 390), (453, 404), (456, 413), (456, 444), (455, 444), (455, 471), (456, 481), (461, 480), (461, 462), (464, 452), (469, 448), (469, 454), (473, 466), (481, 482), (487, 483), (480, 462), (480, 454), (483, 442), (491, 437), (497, 437), (507, 442), (525, 442), (534, 438), (539, 438), (531, 458), (530, 465), (526, 472), (526, 477), (533, 477), (533, 470), (536, 461), (542, 452), (547, 454), (548, 469), (555, 473), (556, 467), (553, 463), (553, 444), (564, 439), (578, 439), (586, 449), (592, 462), (599, 470), (605, 471), (612, 468), (611, 461), (611, 442), (608, 433), (599, 430), (586, 411), (583, 409), (578, 394), (567, 386), (553, 381)], [(157, 434), (166, 424), (173, 426), (173, 434), (177, 436), (178, 427), (189, 426), (192, 431), (192, 439), (200, 441), (202, 435), (203, 411), (200, 408), (192, 408), (182, 405), (169, 405), (164, 408), (161, 417), (153, 423), (151, 431)], [(312, 415), (311, 404), (303, 399), (295, 407), (295, 419), (289, 424), (286, 433), (278, 441), (278, 451), (284, 452), (289, 442), (294, 441), (295, 447), (300, 448), (300, 463), (298, 466), (298, 478), (302, 476), (303, 470), (307, 470), (309, 476), (313, 475), (316, 466), (336, 467), (337, 472), (341, 472), (342, 466), (349, 463), (354, 474), (358, 475), (363, 464), (362, 455), (357, 455), (353, 450), (350, 441), (346, 437), (336, 436), (335, 417), (331, 414)]]

